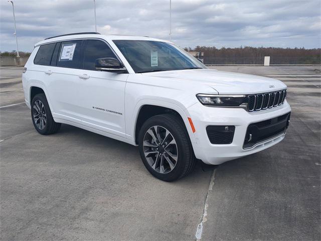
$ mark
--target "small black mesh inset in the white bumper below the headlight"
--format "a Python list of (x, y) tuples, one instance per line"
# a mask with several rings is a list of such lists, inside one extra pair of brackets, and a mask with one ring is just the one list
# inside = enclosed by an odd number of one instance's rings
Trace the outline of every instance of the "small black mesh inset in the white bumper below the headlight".
[(212, 144), (231, 144), (233, 142), (235, 126), (208, 126), (207, 136)]

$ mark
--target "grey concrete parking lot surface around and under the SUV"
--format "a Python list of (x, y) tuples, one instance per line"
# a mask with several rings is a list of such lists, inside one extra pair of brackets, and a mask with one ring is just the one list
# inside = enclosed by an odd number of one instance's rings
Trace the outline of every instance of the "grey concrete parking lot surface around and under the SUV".
[(37, 134), (22, 68), (1, 67), (1, 240), (320, 240), (320, 67), (211, 68), (287, 84), (287, 136), (166, 183), (134, 146), (68, 125)]

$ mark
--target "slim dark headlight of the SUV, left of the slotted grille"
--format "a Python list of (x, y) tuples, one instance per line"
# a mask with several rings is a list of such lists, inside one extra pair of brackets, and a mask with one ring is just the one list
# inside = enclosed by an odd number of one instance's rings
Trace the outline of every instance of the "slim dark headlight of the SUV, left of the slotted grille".
[(214, 106), (239, 106), (247, 102), (246, 95), (197, 94), (196, 97), (202, 104)]

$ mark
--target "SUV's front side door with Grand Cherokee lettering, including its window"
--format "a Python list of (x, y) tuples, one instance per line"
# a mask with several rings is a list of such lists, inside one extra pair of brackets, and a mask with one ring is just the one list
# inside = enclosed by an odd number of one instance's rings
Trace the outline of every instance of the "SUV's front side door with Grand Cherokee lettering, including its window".
[(84, 69), (81, 74), (88, 78), (80, 81), (77, 98), (81, 123), (125, 137), (124, 92), (128, 74), (96, 70), (95, 60), (107, 57), (117, 58), (105, 41), (85, 40)]

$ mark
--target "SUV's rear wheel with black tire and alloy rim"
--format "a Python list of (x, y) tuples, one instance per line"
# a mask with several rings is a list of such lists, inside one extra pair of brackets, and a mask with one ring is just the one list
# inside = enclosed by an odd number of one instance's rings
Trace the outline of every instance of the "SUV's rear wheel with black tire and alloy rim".
[[(39, 110), (41, 110), (39, 112)], [(50, 135), (59, 131), (61, 123), (52, 117), (45, 94), (37, 94), (31, 102), (31, 118), (35, 129), (41, 135)]]

